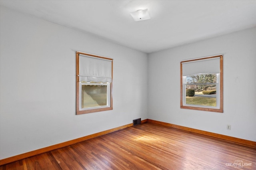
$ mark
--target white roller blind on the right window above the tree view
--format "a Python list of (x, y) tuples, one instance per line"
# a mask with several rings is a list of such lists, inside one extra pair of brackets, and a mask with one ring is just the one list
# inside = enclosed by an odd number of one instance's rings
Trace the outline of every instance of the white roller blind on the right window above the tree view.
[(220, 73), (220, 57), (199, 59), (196, 61), (182, 61), (182, 76)]

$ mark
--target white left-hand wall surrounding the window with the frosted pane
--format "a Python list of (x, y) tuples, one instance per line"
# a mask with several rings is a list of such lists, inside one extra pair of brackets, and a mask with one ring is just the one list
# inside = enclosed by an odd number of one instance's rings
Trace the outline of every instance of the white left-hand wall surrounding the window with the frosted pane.
[[(0, 159), (147, 119), (146, 53), (0, 12)], [(75, 115), (76, 51), (114, 59), (113, 110)]]

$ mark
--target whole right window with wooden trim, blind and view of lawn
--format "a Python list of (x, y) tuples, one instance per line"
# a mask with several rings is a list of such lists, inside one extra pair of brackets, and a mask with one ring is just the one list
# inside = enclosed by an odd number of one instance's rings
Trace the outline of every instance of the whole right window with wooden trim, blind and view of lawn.
[(223, 113), (223, 56), (180, 62), (180, 108)]

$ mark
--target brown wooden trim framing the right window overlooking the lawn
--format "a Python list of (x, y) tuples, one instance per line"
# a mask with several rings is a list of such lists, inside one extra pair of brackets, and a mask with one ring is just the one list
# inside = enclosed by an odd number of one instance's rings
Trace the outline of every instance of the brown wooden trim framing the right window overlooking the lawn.
[[(196, 106), (183, 105), (183, 95), (185, 92), (183, 91), (182, 63), (198, 61), (198, 60), (203, 60), (203, 59), (211, 59), (211, 58), (216, 58), (216, 57), (220, 57), (219, 108), (211, 108), (211, 107), (204, 107), (204, 106), (201, 107), (199, 105), (196, 105)], [(212, 112), (223, 113), (223, 55), (215, 55), (215, 56), (211, 56), (211, 57), (191, 59), (191, 60), (186, 60), (186, 61), (180, 62), (180, 108), (181, 109), (192, 109), (192, 110), (212, 111)]]

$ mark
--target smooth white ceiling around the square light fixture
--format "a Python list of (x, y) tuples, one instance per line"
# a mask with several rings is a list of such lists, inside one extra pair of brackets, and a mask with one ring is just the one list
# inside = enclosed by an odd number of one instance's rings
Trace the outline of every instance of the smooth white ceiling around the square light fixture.
[[(252, 28), (256, 0), (0, 0), (5, 6), (145, 53)], [(130, 12), (148, 8), (151, 19)]]

